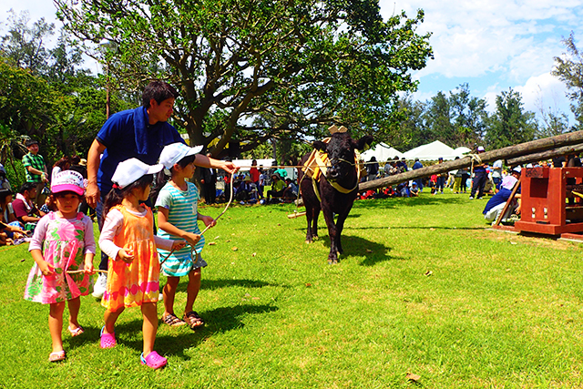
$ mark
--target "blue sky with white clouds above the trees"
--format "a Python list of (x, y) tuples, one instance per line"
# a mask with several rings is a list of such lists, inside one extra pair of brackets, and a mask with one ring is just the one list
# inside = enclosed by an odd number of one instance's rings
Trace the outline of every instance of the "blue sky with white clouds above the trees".
[[(420, 81), (417, 99), (467, 83), (473, 96), (486, 98), (489, 110), (496, 95), (512, 87), (522, 94), (527, 110), (568, 112), (565, 87), (550, 71), (553, 57), (565, 52), (563, 37), (574, 31), (583, 42), (583, 0), (381, 0), (380, 5), (385, 18), (401, 10), (414, 16), (424, 9), (418, 32), (433, 33), (435, 59), (414, 74)], [(2, 35), (11, 7), (28, 10), (32, 20), (44, 16), (55, 21), (50, 0), (6, 1), (0, 5)]]

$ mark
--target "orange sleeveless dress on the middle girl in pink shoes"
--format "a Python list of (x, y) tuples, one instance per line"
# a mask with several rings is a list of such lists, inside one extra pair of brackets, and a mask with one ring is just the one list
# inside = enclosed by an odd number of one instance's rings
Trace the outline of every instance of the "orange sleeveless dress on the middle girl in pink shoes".
[(109, 312), (123, 307), (135, 307), (144, 302), (158, 302), (160, 265), (153, 233), (153, 215), (148, 207), (144, 217), (128, 212), (118, 205), (124, 221), (113, 242), (134, 251), (134, 261), (126, 263), (109, 258), (107, 289), (101, 305)]

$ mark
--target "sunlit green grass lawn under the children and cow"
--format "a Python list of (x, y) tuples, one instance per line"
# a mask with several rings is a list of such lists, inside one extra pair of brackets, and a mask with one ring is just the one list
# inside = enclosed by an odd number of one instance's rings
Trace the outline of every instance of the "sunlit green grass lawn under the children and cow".
[(195, 306), (207, 325), (160, 323), (161, 371), (139, 364), (138, 309), (120, 316), (118, 346), (99, 348), (104, 309), (91, 296), (86, 333), (65, 330), (66, 362), (47, 363), (48, 307), (22, 298), (27, 245), (2, 248), (0, 387), (582, 387), (580, 244), (486, 230), (485, 204), (357, 201), (333, 266), (322, 216), (307, 245), (305, 219), (286, 217), (292, 205), (234, 205), (206, 234), (215, 244)]

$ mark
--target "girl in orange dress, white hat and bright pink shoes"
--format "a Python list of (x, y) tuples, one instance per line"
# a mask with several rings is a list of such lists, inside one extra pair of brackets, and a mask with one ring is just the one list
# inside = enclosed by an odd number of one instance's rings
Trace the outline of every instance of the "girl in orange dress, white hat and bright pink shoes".
[(154, 235), (152, 211), (141, 201), (148, 200), (153, 174), (164, 166), (150, 166), (139, 159), (119, 163), (107, 194), (107, 212), (99, 247), (109, 257), (107, 290), (101, 304), (106, 307), (101, 329), (101, 348), (116, 345), (115, 325), (127, 307), (139, 306), (144, 318), (142, 364), (152, 369), (163, 367), (166, 358), (154, 351), (158, 330), (159, 259), (157, 247), (179, 250), (185, 241), (170, 241)]

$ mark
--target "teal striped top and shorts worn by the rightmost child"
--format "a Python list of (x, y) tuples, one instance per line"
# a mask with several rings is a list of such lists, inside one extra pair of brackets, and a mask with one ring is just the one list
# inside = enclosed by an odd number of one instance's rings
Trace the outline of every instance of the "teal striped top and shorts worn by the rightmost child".
[[(169, 210), (168, 222), (180, 230), (200, 234), (199, 222), (197, 220), (199, 215), (198, 203), (200, 200), (199, 189), (192, 182), (187, 181), (187, 190), (176, 189), (171, 183), (167, 183), (162, 188), (156, 200), (156, 207), (163, 207)], [(158, 236), (161, 238), (170, 239), (173, 241), (181, 241), (182, 238), (171, 235), (165, 230), (158, 229)], [(204, 237), (200, 237), (195, 251), (200, 253), (204, 246)], [(160, 261), (169, 255), (169, 251), (158, 250), (160, 254)], [(198, 255), (199, 260), (203, 261)], [(206, 262), (197, 265), (197, 258), (192, 258), (190, 246), (182, 250), (174, 251), (169, 256), (168, 260), (162, 264), (164, 273), (166, 275), (180, 277), (189, 273), (190, 270), (196, 267), (206, 266)]]

